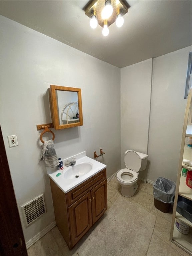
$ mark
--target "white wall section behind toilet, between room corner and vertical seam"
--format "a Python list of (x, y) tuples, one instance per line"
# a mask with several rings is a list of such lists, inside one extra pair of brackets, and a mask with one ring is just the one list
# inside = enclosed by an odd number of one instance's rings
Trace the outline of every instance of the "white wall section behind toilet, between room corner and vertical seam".
[(121, 168), (127, 149), (147, 154), (152, 59), (121, 69)]

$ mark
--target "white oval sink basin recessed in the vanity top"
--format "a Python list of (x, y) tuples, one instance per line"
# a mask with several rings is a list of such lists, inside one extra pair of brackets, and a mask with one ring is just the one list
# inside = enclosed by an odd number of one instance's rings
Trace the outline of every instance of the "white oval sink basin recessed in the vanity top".
[(71, 165), (68, 168), (68, 170), (64, 173), (63, 177), (65, 179), (77, 179), (91, 171), (92, 168), (93, 164), (89, 162)]

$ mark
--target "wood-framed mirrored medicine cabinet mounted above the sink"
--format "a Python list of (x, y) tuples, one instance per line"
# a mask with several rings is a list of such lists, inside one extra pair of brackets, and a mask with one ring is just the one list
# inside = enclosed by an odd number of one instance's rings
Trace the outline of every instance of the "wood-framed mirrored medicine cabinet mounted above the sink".
[(83, 125), (81, 89), (50, 85), (52, 126), (56, 130)]

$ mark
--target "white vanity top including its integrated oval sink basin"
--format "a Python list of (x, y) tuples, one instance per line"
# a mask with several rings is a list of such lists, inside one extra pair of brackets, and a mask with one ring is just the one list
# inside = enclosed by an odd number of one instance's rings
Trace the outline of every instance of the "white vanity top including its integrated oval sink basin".
[[(76, 158), (76, 164), (68, 167), (65, 166), (65, 162), (74, 157)], [(55, 168), (47, 168), (47, 174), (64, 193), (69, 192), (106, 168), (105, 164), (87, 157), (85, 151), (65, 158), (63, 160), (63, 166), (63, 170), (58, 170), (57, 166)]]

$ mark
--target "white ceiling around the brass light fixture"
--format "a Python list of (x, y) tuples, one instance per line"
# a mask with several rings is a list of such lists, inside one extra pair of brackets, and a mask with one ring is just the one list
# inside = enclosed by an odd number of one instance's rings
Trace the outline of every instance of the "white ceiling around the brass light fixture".
[(117, 67), (192, 45), (191, 1), (128, 1), (124, 25), (91, 29), (88, 1), (0, 1), (0, 14)]

